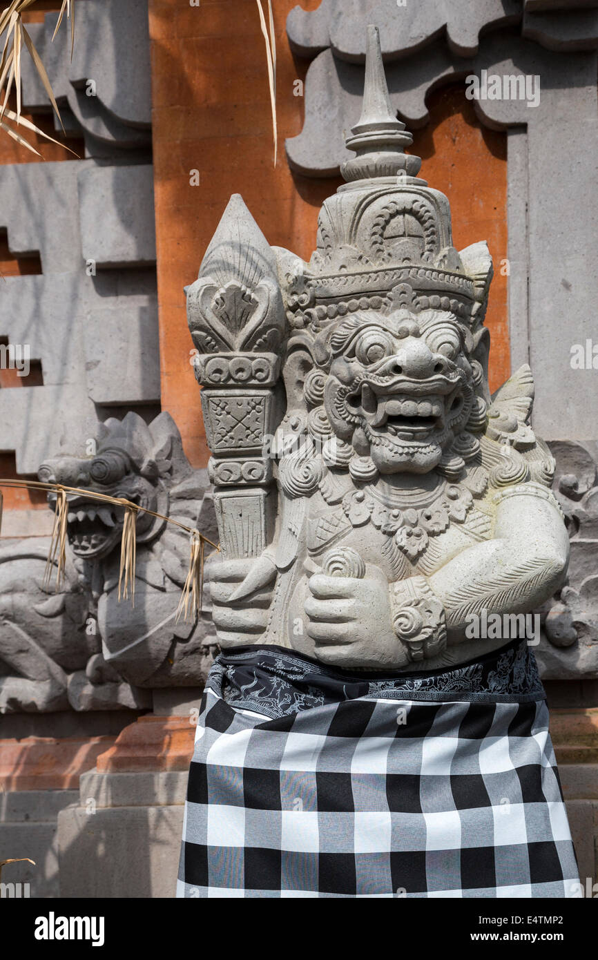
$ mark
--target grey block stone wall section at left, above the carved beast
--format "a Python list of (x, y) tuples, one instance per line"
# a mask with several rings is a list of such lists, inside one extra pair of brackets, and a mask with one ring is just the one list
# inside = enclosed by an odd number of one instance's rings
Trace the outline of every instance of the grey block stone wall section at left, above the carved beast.
[[(159, 411), (147, 4), (84, 0), (79, 12), (72, 61), (66, 31), (51, 42), (57, 13), (29, 32), (84, 155), (5, 164), (0, 182), (9, 251), (36, 252), (41, 266), (7, 276), (2, 296), (0, 336), (28, 344), (43, 378), (0, 396), (0, 449), (14, 451), (21, 475), (65, 445), (83, 452), (97, 420)], [(35, 116), (48, 109), (25, 58), (23, 103)], [(27, 532), (14, 516), (3, 535)]]

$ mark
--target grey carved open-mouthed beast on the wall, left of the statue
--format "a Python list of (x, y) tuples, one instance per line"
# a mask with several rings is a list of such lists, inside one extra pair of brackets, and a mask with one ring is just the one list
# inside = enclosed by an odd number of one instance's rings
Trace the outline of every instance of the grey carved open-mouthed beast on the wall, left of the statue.
[[(99, 424), (97, 450), (65, 453), (40, 480), (122, 496), (197, 526), (215, 518), (205, 470), (193, 470), (168, 414)], [(50, 494), (54, 505), (55, 494)], [(187, 574), (188, 535), (140, 513), (134, 606), (118, 602), (123, 511), (68, 494), (64, 584), (44, 585), (48, 540), (7, 541), (0, 551), (0, 712), (151, 706), (151, 689), (198, 686), (216, 643), (209, 615), (176, 622)], [(210, 536), (211, 535), (211, 536)]]

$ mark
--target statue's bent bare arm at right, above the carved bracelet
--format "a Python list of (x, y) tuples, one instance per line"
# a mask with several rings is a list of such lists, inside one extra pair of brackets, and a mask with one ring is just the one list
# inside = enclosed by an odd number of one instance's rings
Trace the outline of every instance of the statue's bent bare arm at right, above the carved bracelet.
[(497, 505), (494, 537), (468, 547), (428, 578), (443, 604), (448, 643), (466, 638), (471, 614), (529, 612), (562, 584), (569, 541), (550, 493), (517, 488)]

